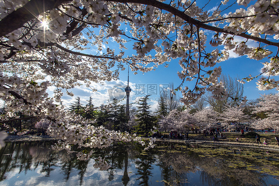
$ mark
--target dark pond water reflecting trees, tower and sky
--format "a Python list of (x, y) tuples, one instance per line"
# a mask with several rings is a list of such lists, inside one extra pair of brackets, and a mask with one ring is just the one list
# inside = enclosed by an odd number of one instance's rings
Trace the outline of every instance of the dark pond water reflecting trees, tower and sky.
[[(0, 150), (0, 186), (278, 186), (278, 152), (158, 143), (96, 150), (88, 161), (53, 151), (50, 141), (9, 142)], [(94, 158), (111, 168), (99, 171)]]

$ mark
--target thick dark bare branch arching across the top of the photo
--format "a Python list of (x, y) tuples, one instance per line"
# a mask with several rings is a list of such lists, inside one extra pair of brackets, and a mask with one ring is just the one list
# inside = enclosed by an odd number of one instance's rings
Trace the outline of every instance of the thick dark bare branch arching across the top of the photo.
[[(21, 28), (24, 25), (24, 23), (35, 18), (37, 15), (41, 14), (42, 12), (53, 8), (57, 8), (62, 3), (66, 3), (70, 1), (71, 0), (30, 0), (23, 7), (18, 8), (17, 10), (11, 12), (0, 21), (0, 37), (18, 28)], [(199, 20), (190, 17), (189, 15), (185, 14), (183, 11), (180, 11), (169, 4), (165, 4), (157, 0), (105, 0), (105, 1), (121, 2), (121, 3), (131, 2), (131, 3), (152, 5), (154, 7), (169, 11), (170, 13), (173, 13), (174, 15), (187, 21), (189, 24), (196, 25), (199, 28), (204, 28), (207, 30), (220, 32), (220, 33), (229, 33), (232, 35), (235, 34), (234, 32), (229, 32), (223, 28), (218, 28), (218, 27), (205, 24)], [(6, 25), (9, 26), (7, 27)], [(279, 43), (272, 42), (267, 39), (251, 36), (245, 33), (238, 34), (238, 36), (279, 47)]]

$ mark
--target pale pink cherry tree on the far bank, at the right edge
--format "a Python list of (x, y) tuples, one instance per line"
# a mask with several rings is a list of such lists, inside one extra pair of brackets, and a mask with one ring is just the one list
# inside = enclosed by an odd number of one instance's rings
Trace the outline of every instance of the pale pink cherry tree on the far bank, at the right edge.
[(263, 113), (265, 118), (259, 118), (253, 124), (255, 129), (279, 130), (279, 93), (263, 94), (252, 113)]

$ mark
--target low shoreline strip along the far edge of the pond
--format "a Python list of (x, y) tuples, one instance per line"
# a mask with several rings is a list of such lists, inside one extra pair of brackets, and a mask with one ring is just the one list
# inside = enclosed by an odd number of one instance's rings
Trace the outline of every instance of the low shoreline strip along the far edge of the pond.
[[(143, 138), (148, 139), (148, 138)], [(9, 135), (4, 140), (5, 142), (18, 142), (18, 141), (55, 141), (58, 140), (57, 138), (53, 138), (51, 136), (12, 136)], [(255, 143), (243, 143), (243, 142), (231, 142), (231, 141), (217, 141), (213, 142), (211, 140), (200, 140), (200, 139), (189, 139), (189, 140), (182, 140), (182, 139), (168, 139), (163, 138), (158, 139), (156, 138), (156, 142), (170, 142), (170, 143), (185, 143), (185, 144), (193, 144), (193, 145), (214, 145), (214, 146), (229, 146), (229, 147), (239, 147), (239, 148), (253, 148), (253, 149), (262, 149), (262, 150), (273, 150), (279, 151), (278, 145), (259, 145)]]

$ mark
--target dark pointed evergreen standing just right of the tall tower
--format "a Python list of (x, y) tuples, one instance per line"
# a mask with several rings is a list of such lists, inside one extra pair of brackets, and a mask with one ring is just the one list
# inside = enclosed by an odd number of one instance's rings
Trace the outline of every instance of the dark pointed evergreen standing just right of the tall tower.
[(146, 95), (139, 99), (138, 104), (138, 114), (136, 121), (139, 123), (137, 126), (137, 131), (142, 131), (147, 133), (155, 125), (156, 118), (151, 114), (150, 105), (148, 105), (147, 100), (150, 95)]

